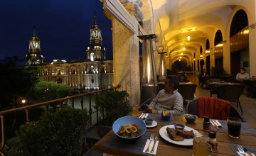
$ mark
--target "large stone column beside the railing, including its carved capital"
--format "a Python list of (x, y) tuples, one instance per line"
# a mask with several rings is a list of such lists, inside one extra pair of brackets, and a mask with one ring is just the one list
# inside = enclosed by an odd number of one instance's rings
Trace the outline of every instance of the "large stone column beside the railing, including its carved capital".
[[(143, 13), (135, 2), (123, 4), (135, 23)], [(131, 105), (139, 104), (139, 38), (117, 19), (112, 18), (114, 86), (121, 85), (130, 96)]]

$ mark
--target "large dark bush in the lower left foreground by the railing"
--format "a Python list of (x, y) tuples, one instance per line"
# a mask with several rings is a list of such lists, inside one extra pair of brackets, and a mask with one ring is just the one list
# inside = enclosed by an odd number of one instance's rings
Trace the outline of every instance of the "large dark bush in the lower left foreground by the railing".
[(80, 155), (89, 126), (86, 111), (63, 108), (48, 113), (38, 122), (22, 125), (14, 152), (19, 155)]

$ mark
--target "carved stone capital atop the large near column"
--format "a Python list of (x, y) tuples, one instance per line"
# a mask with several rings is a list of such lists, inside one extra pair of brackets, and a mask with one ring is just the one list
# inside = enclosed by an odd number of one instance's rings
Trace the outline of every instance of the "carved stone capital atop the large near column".
[(134, 16), (137, 17), (138, 21), (142, 21), (145, 18), (144, 14), (142, 13), (142, 9), (140, 9), (140, 7), (142, 6), (141, 0), (119, 0), (119, 1), (129, 13), (132, 13), (134, 14)]

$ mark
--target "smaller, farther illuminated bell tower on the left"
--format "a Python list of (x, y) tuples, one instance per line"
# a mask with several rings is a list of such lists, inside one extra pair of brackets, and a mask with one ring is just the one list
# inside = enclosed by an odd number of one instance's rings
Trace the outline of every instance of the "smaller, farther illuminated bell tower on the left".
[(29, 39), (26, 65), (43, 65), (44, 57), (41, 55), (40, 40), (36, 36), (36, 28), (33, 28), (33, 36)]

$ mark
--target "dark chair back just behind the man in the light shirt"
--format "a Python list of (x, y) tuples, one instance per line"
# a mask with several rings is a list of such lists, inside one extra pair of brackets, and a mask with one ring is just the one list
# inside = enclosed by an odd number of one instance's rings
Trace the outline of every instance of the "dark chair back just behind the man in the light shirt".
[(181, 94), (184, 100), (193, 100), (194, 93), (196, 92), (196, 84), (180, 84), (178, 86), (178, 92)]

